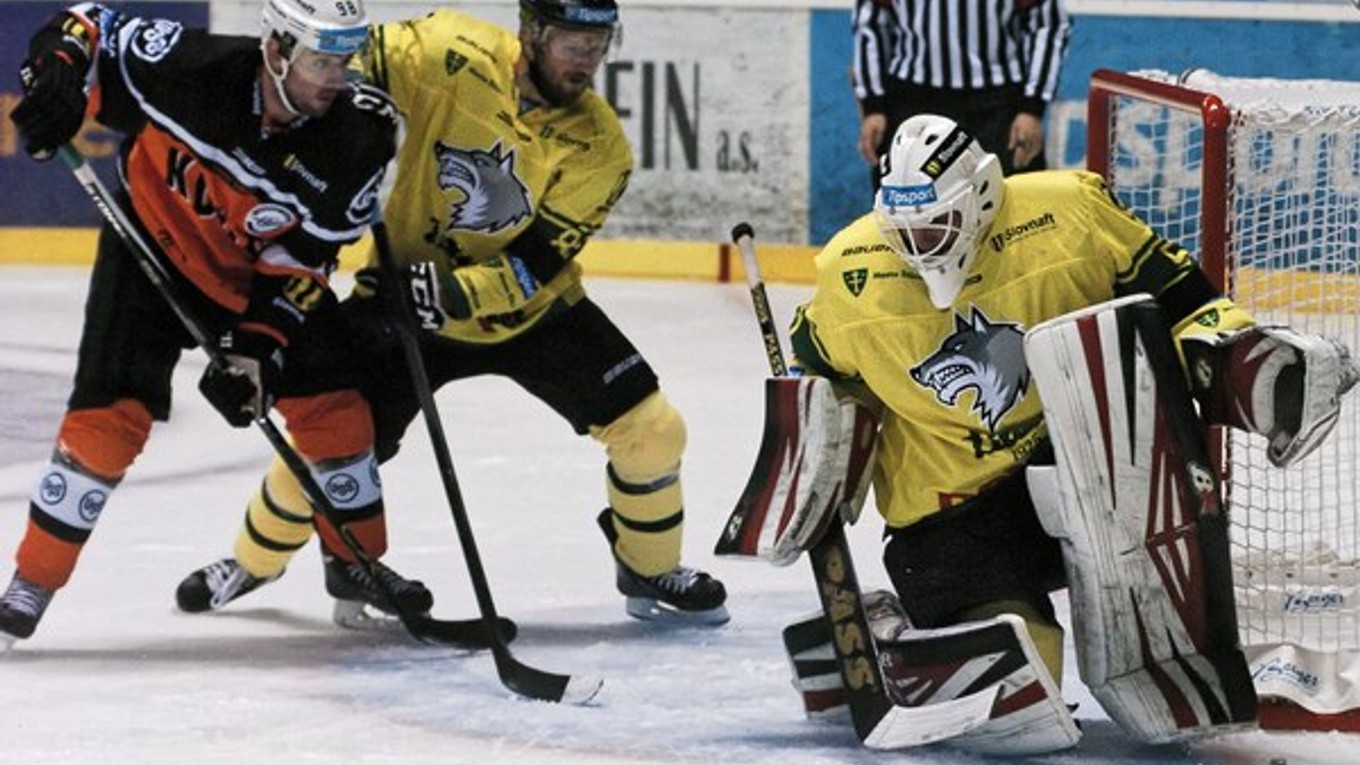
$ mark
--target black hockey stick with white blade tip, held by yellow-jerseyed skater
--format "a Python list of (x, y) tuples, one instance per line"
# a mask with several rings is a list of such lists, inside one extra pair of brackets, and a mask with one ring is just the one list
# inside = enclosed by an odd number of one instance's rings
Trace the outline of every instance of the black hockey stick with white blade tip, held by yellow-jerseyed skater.
[[(528, 698), (539, 701), (562, 701), (567, 704), (585, 704), (600, 693), (604, 685), (602, 678), (592, 675), (558, 675), (530, 667), (510, 653), (510, 648), (499, 633), (494, 629), (498, 623), (496, 606), (491, 599), (491, 587), (487, 584), (487, 572), (481, 566), (481, 555), (477, 553), (477, 543), (472, 536), (472, 524), (468, 521), (468, 508), (462, 502), (462, 491), (458, 489), (458, 476), (453, 471), (453, 459), (449, 455), (449, 441), (443, 434), (443, 425), (439, 421), (439, 410), (435, 406), (434, 391), (430, 388), (430, 376), (426, 372), (424, 357), (420, 354), (419, 333), (422, 329), (416, 324), (415, 306), (409, 291), (401, 289), (404, 279), (397, 270), (396, 256), (392, 253), (392, 242), (388, 241), (388, 226), (382, 222), (381, 210), (373, 215), (373, 242), (378, 249), (378, 261), (382, 267), (386, 286), (389, 310), (397, 316), (401, 338), (401, 351), (407, 359), (407, 369), (411, 372), (411, 381), (415, 387), (416, 399), (420, 402), (420, 412), (430, 432), (430, 445), (434, 448), (435, 461), (439, 464), (439, 478), (443, 481), (443, 493), (449, 501), (449, 512), (453, 513), (453, 524), (458, 530), (458, 543), (462, 546), (462, 557), (468, 564), (468, 576), (472, 579), (472, 589), (477, 596), (477, 607), (481, 610), (481, 619), (490, 634), (491, 656), (496, 662), (496, 674), (500, 682), (510, 690)], [(397, 298), (392, 299), (392, 293)]]

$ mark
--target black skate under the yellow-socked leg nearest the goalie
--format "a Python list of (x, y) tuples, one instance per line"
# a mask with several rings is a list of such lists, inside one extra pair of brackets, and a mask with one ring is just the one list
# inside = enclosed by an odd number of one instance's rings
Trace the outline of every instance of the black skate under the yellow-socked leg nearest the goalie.
[[(609, 540), (609, 550), (617, 535), (612, 523), (613, 510), (605, 508), (597, 521)], [(698, 569), (676, 566), (657, 574), (642, 576), (613, 557), (615, 585), (627, 598), (627, 611), (636, 619), (717, 626), (730, 618), (724, 603), (728, 591), (722, 583)]]

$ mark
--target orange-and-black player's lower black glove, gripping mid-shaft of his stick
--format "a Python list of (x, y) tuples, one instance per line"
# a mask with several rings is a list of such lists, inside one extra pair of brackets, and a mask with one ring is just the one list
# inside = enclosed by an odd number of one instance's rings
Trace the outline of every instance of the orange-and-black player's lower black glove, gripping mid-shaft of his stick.
[(226, 365), (209, 363), (199, 391), (233, 427), (246, 427), (273, 406), (283, 348), (269, 335), (239, 328), (224, 332), (218, 347)]

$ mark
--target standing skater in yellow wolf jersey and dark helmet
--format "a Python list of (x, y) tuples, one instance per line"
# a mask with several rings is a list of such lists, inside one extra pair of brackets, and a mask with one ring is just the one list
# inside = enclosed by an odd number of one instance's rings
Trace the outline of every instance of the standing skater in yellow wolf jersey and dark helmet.
[[(509, 377), (608, 455), (598, 523), (617, 588), (638, 618), (722, 623), (722, 584), (680, 565), (685, 429), (642, 354), (592, 302), (574, 257), (623, 195), (632, 152), (590, 88), (617, 42), (615, 0), (521, 0), (520, 30), (456, 11), (374, 27), (364, 74), (405, 117), (384, 214), (409, 270), (434, 387)], [(377, 255), (370, 264), (377, 263)], [(401, 350), (381, 329), (375, 265), (348, 301), (374, 335), (364, 393), (378, 456), (396, 453), (419, 412)], [(250, 501), (230, 564), (277, 576), (311, 534), (311, 510), (275, 464)], [(205, 569), (204, 569), (205, 570)], [(208, 585), (204, 570), (184, 587)], [(215, 603), (230, 600), (230, 593)]]

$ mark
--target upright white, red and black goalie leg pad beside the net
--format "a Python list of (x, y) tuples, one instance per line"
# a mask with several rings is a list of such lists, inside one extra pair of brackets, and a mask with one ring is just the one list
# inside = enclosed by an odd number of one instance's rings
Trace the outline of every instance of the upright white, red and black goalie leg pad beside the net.
[(1025, 355), (1058, 457), (1031, 495), (1062, 543), (1081, 679), (1144, 740), (1250, 726), (1227, 519), (1156, 304), (1043, 323)]

